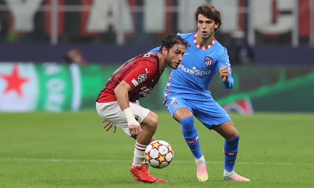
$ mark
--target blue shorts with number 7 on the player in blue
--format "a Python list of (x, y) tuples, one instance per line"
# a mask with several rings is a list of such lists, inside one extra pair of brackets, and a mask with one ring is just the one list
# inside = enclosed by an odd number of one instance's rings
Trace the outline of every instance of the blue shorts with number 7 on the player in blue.
[(168, 96), (164, 101), (165, 107), (173, 117), (177, 109), (188, 108), (195, 118), (203, 123), (208, 129), (212, 125), (220, 125), (231, 120), (228, 113), (213, 98), (208, 101), (196, 101), (190, 99), (181, 99), (179, 96)]

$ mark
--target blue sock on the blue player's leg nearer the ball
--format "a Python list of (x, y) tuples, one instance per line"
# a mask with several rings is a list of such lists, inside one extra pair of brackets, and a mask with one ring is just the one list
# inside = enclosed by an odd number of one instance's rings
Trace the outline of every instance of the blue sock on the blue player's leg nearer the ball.
[(202, 157), (202, 152), (199, 147), (198, 142), (198, 133), (196, 131), (196, 128), (194, 126), (194, 118), (193, 117), (186, 117), (183, 118), (181, 121), (181, 127), (182, 127), (182, 133), (183, 136), (187, 142), (187, 145), (189, 146), (190, 150), (192, 151), (192, 154), (195, 158)]

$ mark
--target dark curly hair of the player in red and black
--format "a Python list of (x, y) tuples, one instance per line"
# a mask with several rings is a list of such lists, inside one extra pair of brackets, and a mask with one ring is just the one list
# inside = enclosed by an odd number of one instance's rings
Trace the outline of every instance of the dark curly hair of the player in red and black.
[(160, 49), (158, 50), (158, 52), (162, 54), (163, 46), (165, 46), (169, 51), (175, 44), (185, 45), (186, 50), (191, 47), (191, 44), (189, 44), (186, 39), (183, 39), (181, 36), (175, 33), (171, 33), (167, 34), (163, 39), (161, 39)]

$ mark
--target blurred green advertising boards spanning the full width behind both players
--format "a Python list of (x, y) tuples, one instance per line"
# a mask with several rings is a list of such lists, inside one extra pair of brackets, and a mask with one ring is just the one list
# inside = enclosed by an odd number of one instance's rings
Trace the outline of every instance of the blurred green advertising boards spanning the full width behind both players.
[[(0, 112), (95, 110), (98, 93), (120, 65), (0, 62)], [(154, 91), (140, 99), (143, 107), (165, 110), (163, 90), (171, 69), (165, 69)], [(232, 68), (230, 90), (219, 75), (209, 84), (214, 99), (227, 111), (313, 112), (312, 67)]]

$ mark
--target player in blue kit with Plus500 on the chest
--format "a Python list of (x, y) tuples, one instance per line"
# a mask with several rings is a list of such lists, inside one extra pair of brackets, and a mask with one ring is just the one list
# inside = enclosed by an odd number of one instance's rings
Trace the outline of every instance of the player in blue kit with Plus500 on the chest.
[[(193, 116), (209, 130), (213, 129), (225, 138), (223, 178), (250, 181), (234, 171), (240, 134), (228, 113), (208, 91), (208, 84), (217, 71), (226, 89), (231, 89), (234, 83), (227, 50), (214, 38), (221, 25), (219, 10), (214, 6), (202, 4), (196, 10), (195, 19), (197, 33), (178, 33), (192, 44), (192, 47), (184, 54), (179, 68), (172, 69), (164, 90), (164, 104), (172, 117), (181, 123), (183, 136), (195, 158), (199, 181), (207, 181), (208, 173)], [(159, 48), (150, 52), (158, 51)]]

